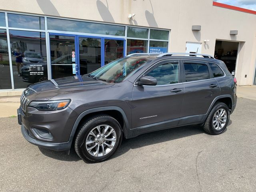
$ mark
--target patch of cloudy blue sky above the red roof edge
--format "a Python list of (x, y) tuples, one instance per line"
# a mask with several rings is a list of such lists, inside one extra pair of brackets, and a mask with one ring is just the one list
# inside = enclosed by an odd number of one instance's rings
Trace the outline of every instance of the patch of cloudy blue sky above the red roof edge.
[(256, 0), (214, 0), (214, 1), (256, 11)]

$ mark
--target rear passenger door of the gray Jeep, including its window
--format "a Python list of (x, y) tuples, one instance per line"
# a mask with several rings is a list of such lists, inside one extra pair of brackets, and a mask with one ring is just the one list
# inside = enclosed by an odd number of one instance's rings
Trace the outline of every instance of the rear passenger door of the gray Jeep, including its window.
[(200, 122), (214, 98), (220, 95), (220, 87), (206, 62), (183, 60), (182, 68), (184, 100), (179, 124)]

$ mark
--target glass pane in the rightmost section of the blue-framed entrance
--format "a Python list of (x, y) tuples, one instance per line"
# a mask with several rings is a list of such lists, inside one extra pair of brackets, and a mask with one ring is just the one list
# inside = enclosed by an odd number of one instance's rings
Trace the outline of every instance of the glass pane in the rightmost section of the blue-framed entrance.
[(124, 57), (124, 40), (105, 39), (105, 64)]

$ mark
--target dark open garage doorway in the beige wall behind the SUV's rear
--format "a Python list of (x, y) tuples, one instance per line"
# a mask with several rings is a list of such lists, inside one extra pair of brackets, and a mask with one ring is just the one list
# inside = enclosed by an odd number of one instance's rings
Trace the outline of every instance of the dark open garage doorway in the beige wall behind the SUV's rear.
[(214, 57), (222, 60), (234, 76), (238, 54), (238, 42), (216, 40)]

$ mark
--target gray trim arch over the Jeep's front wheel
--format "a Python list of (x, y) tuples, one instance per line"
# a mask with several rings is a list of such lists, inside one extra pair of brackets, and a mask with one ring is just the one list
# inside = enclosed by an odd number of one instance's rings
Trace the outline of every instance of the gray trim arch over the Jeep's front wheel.
[(71, 144), (73, 142), (74, 136), (77, 132), (77, 128), (79, 127), (79, 125), (82, 122), (84, 122), (86, 119), (90, 118), (91, 116), (97, 115), (97, 114), (108, 114), (108, 115), (112, 116), (121, 125), (122, 132), (124, 133), (125, 137), (127, 137), (128, 135), (131, 134), (129, 132), (130, 124), (129, 124), (128, 118), (127, 118), (124, 110), (122, 110), (122, 108), (120, 108), (118, 106), (93, 108), (93, 109), (89, 109), (89, 110), (82, 112), (76, 119), (74, 126), (72, 128), (72, 131), (70, 133), (69, 141), (68, 141), (68, 142), (70, 142), (70, 147), (71, 147)]

